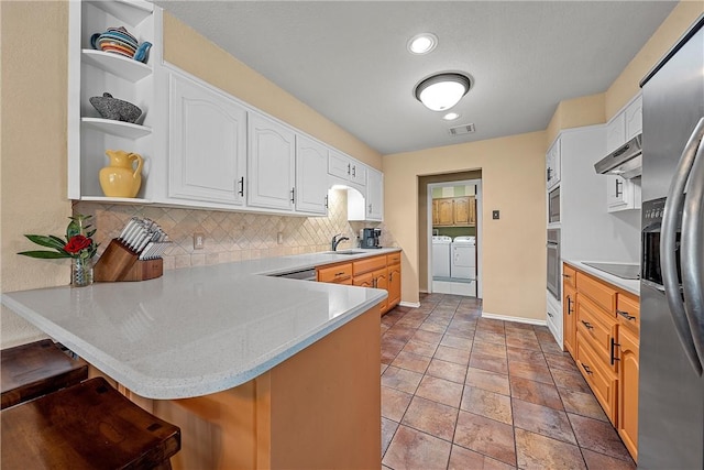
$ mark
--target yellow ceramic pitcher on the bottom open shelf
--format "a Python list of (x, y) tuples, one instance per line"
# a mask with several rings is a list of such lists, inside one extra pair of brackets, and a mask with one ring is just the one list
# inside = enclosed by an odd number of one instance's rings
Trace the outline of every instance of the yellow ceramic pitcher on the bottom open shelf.
[[(108, 150), (110, 164), (100, 170), (100, 187), (108, 197), (135, 197), (142, 185), (144, 160), (136, 153)], [(136, 168), (134, 168), (136, 162)]]

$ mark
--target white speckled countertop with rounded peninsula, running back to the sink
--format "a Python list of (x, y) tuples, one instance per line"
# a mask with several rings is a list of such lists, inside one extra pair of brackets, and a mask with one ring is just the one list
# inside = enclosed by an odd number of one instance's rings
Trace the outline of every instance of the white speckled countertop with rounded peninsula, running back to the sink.
[(354, 251), (4, 293), (2, 304), (138, 395), (200, 396), (261, 375), (383, 300), (386, 291), (262, 275), (399, 249)]

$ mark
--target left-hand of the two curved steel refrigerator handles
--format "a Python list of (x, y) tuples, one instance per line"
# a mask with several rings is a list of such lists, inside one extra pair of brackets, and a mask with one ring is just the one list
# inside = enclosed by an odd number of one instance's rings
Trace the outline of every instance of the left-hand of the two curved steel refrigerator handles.
[(686, 353), (690, 363), (697, 374), (702, 374), (702, 361), (694, 347), (694, 337), (690, 329), (686, 313), (684, 311), (684, 302), (680, 295), (680, 282), (678, 278), (676, 265), (676, 230), (678, 216), (680, 209), (684, 205), (684, 188), (686, 186), (692, 165), (697, 154), (697, 147), (704, 136), (704, 118), (700, 119), (690, 136), (680, 163), (674, 172), (668, 198), (664, 205), (664, 215), (662, 216), (662, 231), (660, 243), (660, 270), (662, 272), (662, 285), (664, 286), (666, 298), (670, 306), (670, 315), (674, 323), (675, 331), (680, 338), (680, 343)]

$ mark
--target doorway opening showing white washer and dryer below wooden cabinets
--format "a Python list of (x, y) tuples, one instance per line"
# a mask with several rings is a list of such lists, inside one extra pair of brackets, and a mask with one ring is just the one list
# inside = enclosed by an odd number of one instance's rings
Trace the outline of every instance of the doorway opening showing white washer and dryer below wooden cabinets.
[(482, 297), (481, 176), (473, 171), (419, 178), (426, 292)]

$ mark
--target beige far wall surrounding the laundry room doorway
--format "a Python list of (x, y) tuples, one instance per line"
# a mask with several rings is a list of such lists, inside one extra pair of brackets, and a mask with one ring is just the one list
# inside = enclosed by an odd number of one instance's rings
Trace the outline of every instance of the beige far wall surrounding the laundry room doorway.
[[(546, 133), (442, 146), (384, 157), (385, 225), (404, 250), (403, 299), (418, 302), (421, 267), (419, 177), (482, 171), (484, 310), (544, 318)], [(492, 220), (492, 210), (502, 218)]]

